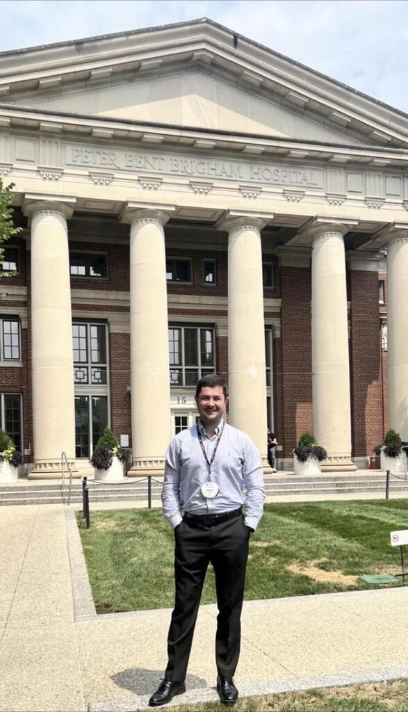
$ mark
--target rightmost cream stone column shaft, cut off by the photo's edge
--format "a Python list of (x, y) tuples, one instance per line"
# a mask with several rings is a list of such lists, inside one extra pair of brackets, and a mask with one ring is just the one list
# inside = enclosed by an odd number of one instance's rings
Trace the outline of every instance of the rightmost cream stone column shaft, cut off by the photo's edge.
[(408, 441), (408, 226), (389, 231), (387, 323), (389, 427)]

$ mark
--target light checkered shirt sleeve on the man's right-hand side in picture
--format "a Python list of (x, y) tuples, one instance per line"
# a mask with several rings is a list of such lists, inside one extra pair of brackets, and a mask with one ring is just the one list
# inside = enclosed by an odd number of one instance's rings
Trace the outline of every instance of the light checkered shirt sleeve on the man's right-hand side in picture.
[(245, 442), (243, 476), (246, 489), (245, 523), (255, 530), (263, 515), (265, 488), (263, 486), (261, 456), (258, 448), (249, 438)]

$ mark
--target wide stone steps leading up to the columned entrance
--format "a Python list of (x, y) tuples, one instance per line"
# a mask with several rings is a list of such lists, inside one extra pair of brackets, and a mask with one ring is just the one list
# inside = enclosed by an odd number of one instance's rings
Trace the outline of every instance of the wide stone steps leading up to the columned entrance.
[[(125, 480), (124, 483), (95, 483), (88, 480), (89, 500), (92, 503), (100, 502), (129, 502), (135, 501), (139, 506), (147, 507), (148, 491), (147, 479)], [(335, 496), (359, 494), (370, 495), (384, 494), (385, 472), (364, 470), (357, 473), (325, 473), (318, 477), (302, 477), (292, 474), (268, 475), (265, 478), (266, 497), (268, 501), (275, 498), (314, 495), (335, 498)], [(162, 482), (152, 479), (152, 502), (159, 503)], [(394, 493), (407, 492), (408, 479), (390, 479), (389, 491)], [(72, 504), (82, 503), (82, 483), (73, 482), (70, 501)], [(14, 485), (0, 486), (0, 506), (22, 504), (66, 504), (68, 502), (68, 484), (62, 483), (36, 483), (36, 481), (19, 481)]]

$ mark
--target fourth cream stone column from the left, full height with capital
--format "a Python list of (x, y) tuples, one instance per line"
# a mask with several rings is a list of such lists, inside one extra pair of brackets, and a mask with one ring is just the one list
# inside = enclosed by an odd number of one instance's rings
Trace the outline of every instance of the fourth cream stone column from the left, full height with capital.
[[(350, 367), (344, 224), (315, 224), (312, 246), (313, 433), (328, 451), (323, 469), (355, 470), (351, 460)], [(283, 394), (284, 397), (284, 394)]]

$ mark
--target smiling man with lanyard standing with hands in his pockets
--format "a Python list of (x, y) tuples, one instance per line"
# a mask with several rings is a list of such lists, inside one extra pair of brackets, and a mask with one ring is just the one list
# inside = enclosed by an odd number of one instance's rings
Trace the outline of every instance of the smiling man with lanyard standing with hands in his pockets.
[(241, 642), (249, 537), (261, 519), (265, 498), (263, 470), (249, 436), (224, 421), (228, 402), (224, 379), (216, 375), (200, 379), (195, 399), (199, 422), (172, 439), (164, 469), (162, 502), (164, 516), (174, 528), (176, 598), (167, 638), (167, 669), (150, 698), (152, 707), (185, 692), (209, 562), (214, 567), (219, 609), (216, 689), (222, 702), (234, 703), (238, 698), (233, 676)]

